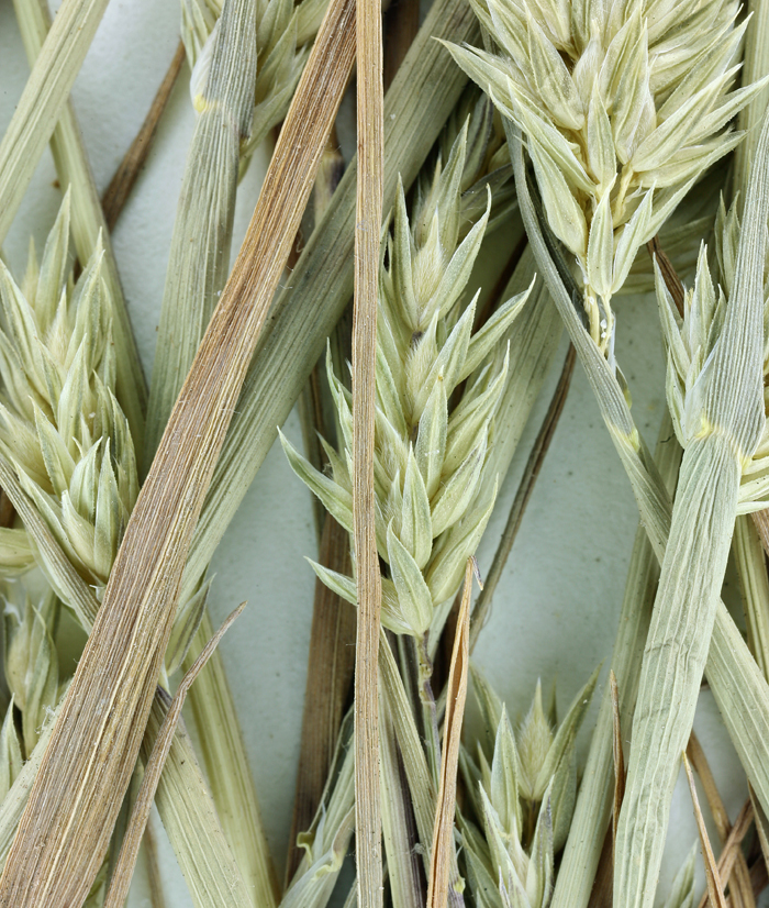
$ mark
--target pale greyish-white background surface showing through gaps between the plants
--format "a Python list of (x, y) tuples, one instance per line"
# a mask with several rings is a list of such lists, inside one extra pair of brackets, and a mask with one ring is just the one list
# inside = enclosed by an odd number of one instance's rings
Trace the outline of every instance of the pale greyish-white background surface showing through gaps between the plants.
[[(102, 191), (138, 130), (178, 42), (174, 0), (112, 0), (76, 82), (74, 101)], [(0, 0), (0, 129), (4, 130), (29, 68), (11, 0)], [(116, 226), (114, 246), (147, 374), (165, 280), (176, 201), (193, 129), (185, 68), (144, 173)], [(253, 211), (264, 157), (238, 195), (234, 250)], [(29, 235), (38, 251), (56, 214), (49, 154), (4, 244), (15, 274), (23, 272)], [(654, 445), (664, 407), (664, 364), (651, 298), (618, 303), (617, 357), (634, 396), (634, 413)], [(559, 362), (561, 354), (559, 354)], [(556, 372), (558, 368), (556, 368)], [(480, 553), (488, 569), (495, 538), (556, 376), (553, 375), (524, 436)], [(301, 439), (296, 416), (287, 423)], [(494, 599), (492, 619), (476, 650), (513, 716), (527, 709), (537, 677), (557, 680), (561, 708), (592, 668), (609, 660), (622, 601), (637, 513), (625, 474), (577, 367), (571, 392), (530, 503), (522, 532)], [(309, 492), (274, 449), (216, 553), (214, 622), (237, 602), (249, 602), (222, 644), (243, 724), (267, 833), (282, 877), (298, 758), (313, 576), (304, 562), (315, 550)], [(602, 691), (605, 668), (601, 677)], [(592, 722), (592, 716), (590, 722)], [(701, 698), (696, 731), (711, 756), (732, 819), (746, 797), (744, 776), (709, 694)], [(695, 839), (681, 780), (668, 837), (667, 885)], [(169, 906), (190, 905), (167, 844), (163, 872)], [(700, 871), (701, 873), (701, 871)], [(701, 890), (701, 889), (700, 889)], [(662, 899), (664, 900), (664, 899)], [(132, 905), (148, 905), (142, 881)]]

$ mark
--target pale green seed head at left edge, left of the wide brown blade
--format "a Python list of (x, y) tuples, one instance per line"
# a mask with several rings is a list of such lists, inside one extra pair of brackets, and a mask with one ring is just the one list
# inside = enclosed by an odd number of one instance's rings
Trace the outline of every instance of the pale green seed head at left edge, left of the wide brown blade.
[(0, 263), (0, 445), (80, 575), (98, 588), (138, 492), (114, 394), (112, 310), (97, 248), (77, 284), (65, 197), (20, 288)]

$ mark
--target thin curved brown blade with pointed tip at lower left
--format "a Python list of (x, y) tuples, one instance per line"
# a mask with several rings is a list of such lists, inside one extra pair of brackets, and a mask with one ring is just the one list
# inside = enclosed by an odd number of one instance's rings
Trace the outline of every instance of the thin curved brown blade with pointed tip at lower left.
[(160, 782), (163, 766), (168, 757), (171, 744), (174, 743), (174, 734), (176, 732), (177, 723), (181, 718), (181, 708), (185, 705), (187, 691), (190, 689), (190, 686), (213, 654), (213, 651), (219, 645), (222, 636), (224, 636), (227, 632), (227, 629), (232, 625), (233, 621), (238, 618), (245, 608), (245, 602), (242, 602), (235, 611), (233, 611), (224, 620), (222, 627), (203, 647), (203, 651), (196, 660), (194, 665), (192, 665), (192, 667), (185, 673), (185, 676), (181, 679), (176, 694), (174, 695), (170, 708), (166, 713), (166, 718), (163, 720), (163, 724), (160, 726), (160, 731), (155, 739), (153, 752), (149, 755), (147, 765), (144, 768), (144, 778), (142, 779), (142, 786), (138, 790), (138, 796), (131, 813), (131, 820), (129, 822), (125, 838), (123, 839), (120, 856), (118, 857), (118, 863), (115, 864), (112, 879), (110, 881), (110, 889), (107, 894), (107, 899), (104, 900), (104, 908), (122, 908), (129, 896), (131, 877), (133, 876), (136, 859), (138, 857), (138, 846), (142, 843), (142, 835), (144, 834), (147, 820), (149, 819), (149, 810), (152, 809), (155, 793), (157, 791), (157, 786)]

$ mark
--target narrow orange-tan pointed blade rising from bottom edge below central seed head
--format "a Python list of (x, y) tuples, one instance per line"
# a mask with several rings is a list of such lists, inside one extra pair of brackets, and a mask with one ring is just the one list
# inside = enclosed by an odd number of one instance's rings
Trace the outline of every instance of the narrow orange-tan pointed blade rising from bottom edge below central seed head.
[(448, 903), (448, 885), (454, 854), (454, 815), (457, 804), (457, 764), (461, 723), (467, 697), (467, 673), (470, 663), (470, 593), (472, 591), (472, 558), (465, 568), (465, 587), (454, 639), (452, 668), (446, 694), (446, 719), (441, 755), (441, 784), (431, 850), (427, 908), (444, 908)]

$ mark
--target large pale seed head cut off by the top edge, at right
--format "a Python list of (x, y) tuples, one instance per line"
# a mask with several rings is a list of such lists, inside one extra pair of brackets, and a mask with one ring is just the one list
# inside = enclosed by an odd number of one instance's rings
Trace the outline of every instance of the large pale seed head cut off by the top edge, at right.
[(498, 45), (450, 46), (525, 133), (548, 223), (575, 256), (593, 340), (637, 250), (740, 133), (734, 0), (471, 0)]

